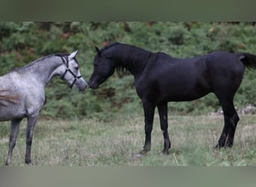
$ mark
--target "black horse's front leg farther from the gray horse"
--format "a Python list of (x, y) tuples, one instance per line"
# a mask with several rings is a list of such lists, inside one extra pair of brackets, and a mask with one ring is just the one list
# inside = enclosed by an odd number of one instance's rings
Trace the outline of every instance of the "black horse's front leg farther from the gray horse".
[(167, 114), (167, 102), (157, 105), (160, 125), (162, 129), (162, 134), (164, 138), (164, 149), (162, 153), (168, 154), (168, 150), (171, 147), (171, 141), (168, 135), (168, 114)]

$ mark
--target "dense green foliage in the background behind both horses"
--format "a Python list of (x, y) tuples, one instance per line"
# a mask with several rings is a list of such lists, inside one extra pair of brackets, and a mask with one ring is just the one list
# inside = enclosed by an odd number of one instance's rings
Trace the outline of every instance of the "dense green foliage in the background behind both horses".
[[(94, 46), (129, 43), (152, 52), (177, 58), (204, 55), (215, 50), (256, 54), (254, 22), (0, 22), (0, 75), (22, 67), (43, 55), (73, 52), (82, 76), (88, 80), (95, 55)], [(256, 104), (256, 72), (246, 70), (235, 97), (237, 108)], [(97, 91), (70, 91), (55, 78), (46, 87), (44, 117), (100, 117), (141, 112), (141, 101), (129, 74), (115, 73)], [(207, 114), (218, 109), (216, 96), (209, 94), (192, 102), (171, 102), (171, 113)]]

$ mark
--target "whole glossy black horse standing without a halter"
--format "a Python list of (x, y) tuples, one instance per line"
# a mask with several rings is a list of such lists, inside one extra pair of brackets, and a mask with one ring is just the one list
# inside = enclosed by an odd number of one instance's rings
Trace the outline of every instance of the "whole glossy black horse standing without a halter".
[(178, 59), (162, 52), (148, 52), (135, 46), (112, 43), (96, 47), (94, 72), (88, 85), (97, 89), (121, 67), (135, 78), (135, 89), (143, 102), (145, 143), (141, 154), (150, 150), (153, 114), (158, 108), (164, 138), (162, 153), (171, 147), (168, 135), (167, 103), (191, 101), (213, 92), (224, 111), (225, 125), (219, 147), (231, 147), (240, 118), (234, 108), (234, 95), (240, 86), (245, 67), (256, 69), (256, 55), (212, 52), (195, 58)]

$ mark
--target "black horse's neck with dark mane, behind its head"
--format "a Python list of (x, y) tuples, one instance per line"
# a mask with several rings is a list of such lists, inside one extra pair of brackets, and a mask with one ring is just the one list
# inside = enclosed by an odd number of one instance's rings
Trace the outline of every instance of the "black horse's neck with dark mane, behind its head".
[(153, 54), (144, 49), (127, 44), (114, 43), (109, 49), (115, 61), (115, 67), (127, 69), (133, 76), (140, 76), (147, 64), (148, 59)]

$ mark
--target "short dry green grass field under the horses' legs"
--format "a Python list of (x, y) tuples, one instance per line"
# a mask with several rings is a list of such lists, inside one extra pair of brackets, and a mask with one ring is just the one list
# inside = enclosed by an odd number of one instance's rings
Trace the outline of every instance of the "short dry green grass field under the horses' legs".
[[(25, 125), (22, 122), (11, 165), (24, 165)], [(256, 165), (256, 115), (241, 115), (234, 147), (215, 150), (223, 128), (222, 116), (169, 116), (171, 149), (163, 148), (159, 117), (155, 115), (152, 147), (147, 156), (135, 158), (144, 144), (144, 118), (118, 116), (103, 122), (43, 120), (37, 122), (31, 149), (34, 165)], [(7, 155), (10, 124), (0, 125), (0, 163)]]

